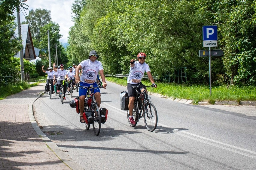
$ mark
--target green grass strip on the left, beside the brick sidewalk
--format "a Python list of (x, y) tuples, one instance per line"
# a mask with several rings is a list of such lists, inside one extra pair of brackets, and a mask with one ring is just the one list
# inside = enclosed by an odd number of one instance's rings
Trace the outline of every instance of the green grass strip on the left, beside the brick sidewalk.
[(36, 82), (34, 84), (28, 84), (27, 82), (19, 82), (19, 83), (13, 83), (8, 84), (6, 86), (0, 87), (0, 100), (6, 98), (9, 95), (21, 92), (24, 89), (29, 89), (33, 86), (38, 86), (39, 82)]

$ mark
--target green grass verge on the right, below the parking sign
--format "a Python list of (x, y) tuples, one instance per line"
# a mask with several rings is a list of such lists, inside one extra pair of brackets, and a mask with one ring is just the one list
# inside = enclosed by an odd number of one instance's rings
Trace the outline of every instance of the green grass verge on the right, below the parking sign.
[[(127, 78), (106, 77), (107, 81), (114, 82), (123, 86), (127, 85)], [(151, 85), (149, 80), (142, 80), (145, 85)], [(208, 101), (214, 104), (215, 101), (256, 101), (255, 86), (216, 86), (212, 87), (210, 96), (209, 86), (205, 85), (186, 85), (174, 83), (157, 82), (157, 88), (148, 88), (149, 92), (158, 93), (172, 98), (193, 100), (194, 104), (199, 101)]]

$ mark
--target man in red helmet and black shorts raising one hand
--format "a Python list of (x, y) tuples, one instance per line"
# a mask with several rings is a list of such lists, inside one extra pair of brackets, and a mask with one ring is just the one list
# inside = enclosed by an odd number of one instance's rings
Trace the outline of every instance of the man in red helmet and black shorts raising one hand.
[[(135, 88), (133, 89), (132, 86), (137, 86), (137, 85), (143, 85), (141, 83), (141, 79), (144, 76), (144, 73), (146, 72), (148, 75), (149, 80), (151, 81), (152, 85), (154, 87), (157, 87), (157, 85), (154, 82), (154, 78), (151, 75), (149, 66), (147, 63), (145, 63), (146, 60), (146, 54), (145, 53), (139, 53), (137, 55), (138, 61), (136, 59), (130, 60), (130, 73), (127, 78), (127, 91), (128, 91), (128, 96), (129, 96), (129, 113), (130, 113), (130, 122), (131, 124), (135, 124), (135, 121), (133, 119), (133, 103), (135, 100)], [(144, 89), (140, 88), (137, 89), (138, 91), (142, 92)]]

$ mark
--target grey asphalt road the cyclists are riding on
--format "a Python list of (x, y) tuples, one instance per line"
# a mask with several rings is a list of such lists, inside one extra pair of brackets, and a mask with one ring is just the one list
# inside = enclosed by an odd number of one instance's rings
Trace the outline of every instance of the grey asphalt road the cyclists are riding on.
[(120, 110), (126, 87), (107, 83), (100, 107), (108, 109), (108, 120), (99, 136), (79, 122), (69, 95), (64, 104), (48, 94), (33, 104), (42, 131), (84, 169), (255, 169), (255, 116), (151, 96), (158, 126), (150, 132), (143, 119), (130, 127)]

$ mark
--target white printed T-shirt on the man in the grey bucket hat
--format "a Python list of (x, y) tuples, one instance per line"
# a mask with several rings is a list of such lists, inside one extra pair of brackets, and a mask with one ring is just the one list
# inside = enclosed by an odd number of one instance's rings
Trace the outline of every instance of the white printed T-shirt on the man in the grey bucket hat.
[(102, 63), (100, 61), (92, 62), (90, 59), (84, 60), (80, 63), (83, 73), (80, 81), (88, 84), (93, 84), (96, 79), (99, 70), (103, 70)]

